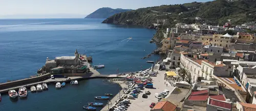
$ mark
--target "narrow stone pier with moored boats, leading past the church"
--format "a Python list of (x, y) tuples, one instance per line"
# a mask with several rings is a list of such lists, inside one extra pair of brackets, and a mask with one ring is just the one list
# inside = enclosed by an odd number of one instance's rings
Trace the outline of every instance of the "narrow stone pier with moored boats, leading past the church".
[[(49, 79), (46, 79), (44, 81), (38, 81), (38, 82), (32, 82), (32, 83), (25, 83), (25, 84), (20, 84), (20, 85), (16, 85), (16, 86), (9, 86), (9, 84), (18, 84), (21, 83), (22, 81), (30, 81), (31, 79), (36, 79), (40, 78), (39, 77), (34, 77), (34, 78), (28, 78), (28, 79), (23, 79), (23, 80), (17, 80), (17, 81), (11, 81), (11, 82), (7, 82), (7, 83), (1, 83), (1, 86), (5, 86), (6, 88), (2, 88), (0, 90), (0, 93), (7, 93), (9, 90), (18, 90), (20, 87), (24, 86), (27, 87), (28, 89), (30, 89), (30, 87), (32, 85), (36, 85), (36, 84), (42, 84), (42, 83), (56, 83), (56, 82), (70, 82), (71, 80), (83, 80), (83, 79), (93, 79), (93, 78), (125, 78), (125, 77), (118, 77), (116, 74), (112, 74), (112, 75), (101, 75), (97, 70), (93, 69), (93, 68), (89, 68), (90, 69), (90, 73), (84, 73), (84, 74), (65, 74), (68, 76), (68, 78), (55, 78), (55, 79), (51, 79), (50, 78), (50, 73), (46, 74), (46, 75), (42, 75), (42, 76), (46, 76)], [(70, 78), (70, 79), (69, 79)]]

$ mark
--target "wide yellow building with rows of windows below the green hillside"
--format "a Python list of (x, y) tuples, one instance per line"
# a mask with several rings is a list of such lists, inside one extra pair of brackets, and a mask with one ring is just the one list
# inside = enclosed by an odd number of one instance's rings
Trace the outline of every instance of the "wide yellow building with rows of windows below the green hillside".
[(228, 49), (231, 48), (235, 42), (233, 36), (228, 33), (225, 35), (214, 34), (212, 36), (201, 36), (200, 41), (203, 45), (220, 46)]

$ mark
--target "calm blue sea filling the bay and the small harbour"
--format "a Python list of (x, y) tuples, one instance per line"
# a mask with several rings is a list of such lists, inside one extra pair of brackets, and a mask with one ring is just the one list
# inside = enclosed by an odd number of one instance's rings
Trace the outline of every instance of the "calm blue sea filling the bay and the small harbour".
[[(104, 64), (101, 74), (135, 72), (150, 68), (147, 60), (158, 60), (158, 55), (141, 59), (158, 46), (150, 43), (156, 33), (133, 25), (101, 24), (104, 19), (0, 19), (0, 82), (29, 78), (36, 75), (46, 58), (74, 56), (77, 51), (93, 57), (92, 65)], [(129, 39), (132, 37), (132, 39)], [(26, 99), (10, 99), (2, 94), (1, 111), (9, 110), (83, 110), (94, 102), (94, 96), (118, 94), (121, 87), (107, 79), (79, 81), (56, 90), (28, 93)], [(96, 101), (103, 102), (107, 101)], [(100, 110), (98, 107), (97, 110)]]

